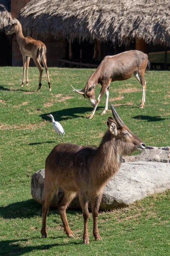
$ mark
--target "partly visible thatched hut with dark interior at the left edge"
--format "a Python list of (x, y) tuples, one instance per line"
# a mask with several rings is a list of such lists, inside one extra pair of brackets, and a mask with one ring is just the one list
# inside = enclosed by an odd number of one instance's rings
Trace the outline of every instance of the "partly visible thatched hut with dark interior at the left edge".
[(11, 38), (5, 34), (10, 24), (10, 0), (0, 0), (0, 66), (11, 65)]

